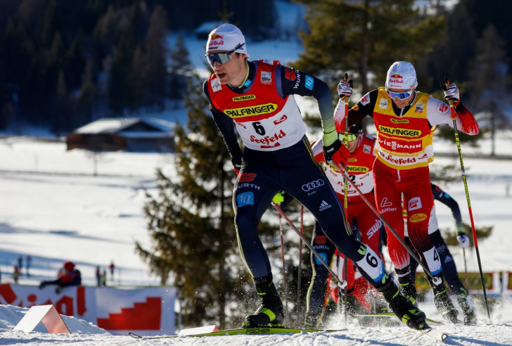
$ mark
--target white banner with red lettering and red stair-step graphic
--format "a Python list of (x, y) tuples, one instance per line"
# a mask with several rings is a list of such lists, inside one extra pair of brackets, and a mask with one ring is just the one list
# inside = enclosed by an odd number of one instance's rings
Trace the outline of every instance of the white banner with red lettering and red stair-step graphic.
[(116, 289), (68, 286), (0, 284), (0, 304), (17, 307), (53, 304), (59, 313), (93, 322), (111, 334), (134, 331), (140, 335), (174, 334), (175, 287)]

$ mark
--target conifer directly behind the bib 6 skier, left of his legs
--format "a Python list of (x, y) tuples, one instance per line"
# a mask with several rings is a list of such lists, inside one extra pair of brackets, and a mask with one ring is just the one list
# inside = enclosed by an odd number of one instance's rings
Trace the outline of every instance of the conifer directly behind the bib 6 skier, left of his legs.
[[(185, 98), (188, 124), (176, 127), (176, 178), (157, 172), (157, 193), (147, 194), (145, 213), (151, 249), (136, 244), (161, 284), (183, 285), (188, 301), (185, 325), (218, 322), (226, 327), (226, 310), (236, 322), (239, 293), (248, 273), (239, 260), (232, 212), (228, 151), (211, 116), (199, 78)], [(245, 278), (245, 280), (241, 280)]]

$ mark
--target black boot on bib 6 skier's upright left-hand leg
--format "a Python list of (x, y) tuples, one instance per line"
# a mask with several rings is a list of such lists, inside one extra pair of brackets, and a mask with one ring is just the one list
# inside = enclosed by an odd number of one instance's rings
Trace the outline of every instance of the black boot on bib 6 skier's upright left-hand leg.
[(272, 282), (272, 275), (258, 277), (254, 279), (254, 282), (262, 304), (254, 315), (246, 316), (242, 327), (282, 327), (284, 322), (283, 303)]

